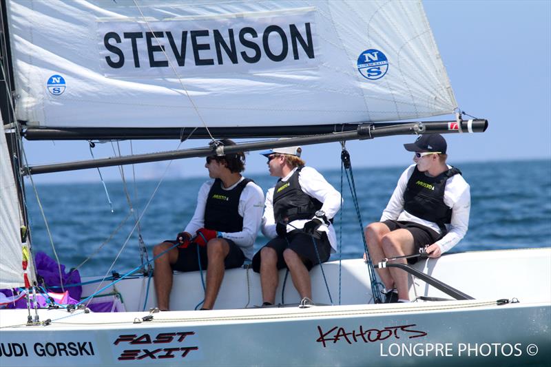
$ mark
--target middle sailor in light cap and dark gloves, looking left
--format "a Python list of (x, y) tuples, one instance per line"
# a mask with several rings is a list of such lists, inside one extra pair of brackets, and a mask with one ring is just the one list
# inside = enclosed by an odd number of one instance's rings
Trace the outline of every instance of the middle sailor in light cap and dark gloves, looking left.
[(278, 270), (287, 268), (304, 306), (313, 305), (309, 271), (335, 252), (333, 217), (341, 206), (340, 193), (300, 159), (300, 147), (275, 148), (268, 158), (270, 176), (279, 177), (268, 190), (262, 233), (270, 240), (254, 255), (260, 273), (263, 306), (275, 303)]

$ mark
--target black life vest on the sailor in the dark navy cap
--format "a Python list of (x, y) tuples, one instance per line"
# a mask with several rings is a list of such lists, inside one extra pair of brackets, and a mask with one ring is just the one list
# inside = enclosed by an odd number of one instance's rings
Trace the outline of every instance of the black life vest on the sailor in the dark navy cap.
[(444, 224), (452, 219), (452, 209), (444, 204), (446, 181), (456, 174), (461, 171), (452, 167), (436, 177), (429, 177), (415, 166), (404, 192), (404, 209), (413, 216), (436, 223), (441, 236), (448, 232)]

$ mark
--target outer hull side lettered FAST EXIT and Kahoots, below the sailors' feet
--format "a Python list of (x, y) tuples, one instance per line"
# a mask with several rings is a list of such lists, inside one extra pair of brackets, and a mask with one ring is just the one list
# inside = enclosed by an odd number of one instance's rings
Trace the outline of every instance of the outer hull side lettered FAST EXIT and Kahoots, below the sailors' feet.
[[(545, 364), (549, 304), (79, 313), (45, 311), (51, 326), (2, 331), (2, 366), (437, 366)], [(77, 311), (81, 312), (81, 311)], [(25, 311), (18, 311), (22, 319)], [(15, 315), (14, 315), (15, 316)], [(16, 350), (17, 349), (17, 350)], [(535, 355), (534, 355), (535, 353)], [(16, 355), (19, 354), (19, 355)]]

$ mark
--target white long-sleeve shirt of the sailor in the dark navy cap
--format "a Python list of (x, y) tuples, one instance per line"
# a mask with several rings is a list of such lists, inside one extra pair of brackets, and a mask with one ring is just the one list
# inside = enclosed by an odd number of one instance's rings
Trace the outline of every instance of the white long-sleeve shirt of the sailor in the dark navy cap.
[[(448, 166), (451, 168), (451, 166)], [(398, 185), (388, 201), (386, 209), (384, 209), (381, 222), (384, 220), (407, 220), (422, 224), (430, 229), (434, 229), (437, 233), (441, 233), (438, 225), (435, 222), (429, 222), (422, 218), (413, 216), (404, 210), (404, 192), (408, 185), (408, 180), (413, 174), (415, 164), (410, 165), (398, 180)], [(452, 218), (450, 224), (446, 224), (448, 233), (443, 238), (435, 242), (440, 247), (442, 253), (449, 251), (457, 242), (464, 238), (469, 226), (470, 215), (470, 186), (465, 181), (463, 176), (457, 174), (446, 181), (446, 189), (444, 189), (444, 204), (452, 209)]]

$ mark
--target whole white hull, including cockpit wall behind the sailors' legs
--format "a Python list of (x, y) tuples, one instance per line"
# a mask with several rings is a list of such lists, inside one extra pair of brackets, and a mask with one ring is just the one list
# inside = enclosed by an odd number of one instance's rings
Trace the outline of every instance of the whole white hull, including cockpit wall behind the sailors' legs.
[[(366, 266), (361, 260), (346, 260), (343, 306), (244, 309), (247, 289), (249, 307), (260, 303), (258, 274), (249, 271), (247, 286), (247, 271), (236, 269), (227, 272), (216, 303), (219, 309), (214, 311), (154, 313), (151, 321), (135, 324), (149, 312), (41, 310), (41, 321), (52, 320), (49, 326), (25, 326), (26, 310), (0, 311), (0, 365), (426, 366), (551, 361), (551, 249), (460, 253), (416, 267), (476, 300), (366, 304), (371, 294)], [(338, 262), (325, 264), (324, 271), (333, 301), (338, 302)], [(314, 300), (328, 301), (319, 269), (313, 270), (313, 278)], [(143, 285), (147, 284), (141, 279), (116, 284), (127, 309), (143, 306)], [(202, 298), (198, 273), (176, 275), (175, 288), (180, 296), (172, 297), (172, 309), (193, 308)], [(229, 297), (232, 291), (234, 297)], [(444, 297), (419, 280), (411, 287), (411, 295), (415, 293)], [(512, 297), (519, 303), (495, 302)], [(285, 301), (298, 302), (290, 279)], [(154, 303), (152, 297), (149, 303)]]

